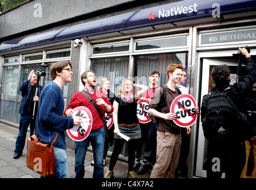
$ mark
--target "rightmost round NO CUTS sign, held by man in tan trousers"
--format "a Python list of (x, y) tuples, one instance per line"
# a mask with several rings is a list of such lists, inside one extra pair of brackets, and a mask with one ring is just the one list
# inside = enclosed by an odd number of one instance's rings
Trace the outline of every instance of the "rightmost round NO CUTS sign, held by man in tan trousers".
[(175, 113), (177, 118), (173, 120), (176, 125), (188, 127), (194, 124), (197, 119), (195, 112), (195, 100), (189, 94), (181, 94), (177, 96), (172, 105), (170, 105), (170, 113)]

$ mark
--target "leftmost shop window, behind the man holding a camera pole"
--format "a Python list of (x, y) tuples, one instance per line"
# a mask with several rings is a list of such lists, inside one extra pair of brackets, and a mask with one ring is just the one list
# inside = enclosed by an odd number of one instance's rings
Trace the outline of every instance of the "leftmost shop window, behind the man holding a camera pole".
[[(26, 55), (17, 55), (4, 58), (2, 83), (0, 84), (0, 119), (18, 124), (20, 121), (21, 91), (20, 85), (27, 80), (31, 70), (40, 69), (42, 63), (50, 65), (52, 60), (70, 59), (70, 49), (50, 50)], [(22, 58), (22, 59), (21, 59)], [(52, 60), (50, 60), (52, 59)], [(24, 64), (24, 62), (26, 64)], [(49, 74), (49, 66), (45, 68), (45, 77), (40, 77), (40, 85), (45, 87), (52, 81)], [(68, 84), (62, 88), (65, 104), (67, 104)]]

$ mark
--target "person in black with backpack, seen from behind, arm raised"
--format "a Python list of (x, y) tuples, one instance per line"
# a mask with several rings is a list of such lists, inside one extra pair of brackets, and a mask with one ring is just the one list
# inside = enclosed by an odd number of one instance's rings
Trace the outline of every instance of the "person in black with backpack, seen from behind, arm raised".
[[(256, 81), (256, 64), (252, 61), (248, 50), (239, 48), (245, 56), (246, 74), (241, 80), (230, 85), (229, 93), (227, 94), (236, 107), (241, 108), (242, 103), (252, 89), (252, 85)], [(217, 65), (211, 71), (216, 87), (213, 88), (216, 92), (224, 91), (229, 87), (230, 69), (227, 65)], [(207, 96), (203, 97), (201, 105), (201, 119), (206, 115)], [(218, 160), (220, 161), (220, 169), (216, 170)], [(241, 172), (245, 164), (245, 144), (238, 141), (235, 137), (225, 140), (208, 140), (208, 160), (207, 160), (207, 178), (221, 178), (222, 173), (226, 173), (226, 178), (240, 178)], [(215, 169), (214, 169), (215, 167)]]

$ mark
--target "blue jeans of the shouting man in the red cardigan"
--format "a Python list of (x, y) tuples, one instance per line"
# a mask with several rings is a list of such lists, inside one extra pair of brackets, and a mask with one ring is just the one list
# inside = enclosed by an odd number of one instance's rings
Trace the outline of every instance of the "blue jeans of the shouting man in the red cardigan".
[(103, 127), (92, 130), (85, 140), (75, 142), (75, 178), (84, 178), (84, 159), (90, 142), (93, 147), (93, 178), (104, 178), (105, 131)]

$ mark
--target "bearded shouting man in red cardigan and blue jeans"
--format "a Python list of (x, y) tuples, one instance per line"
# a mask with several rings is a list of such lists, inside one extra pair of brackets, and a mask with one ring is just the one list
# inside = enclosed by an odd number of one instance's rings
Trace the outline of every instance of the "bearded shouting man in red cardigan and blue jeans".
[[(90, 97), (96, 102), (103, 116), (106, 113), (113, 112), (113, 106), (108, 100), (108, 96), (102, 90), (97, 90), (96, 87), (96, 75), (89, 70), (85, 71), (81, 75), (81, 81), (84, 85), (84, 91), (90, 95)], [(104, 143), (105, 143), (105, 131), (103, 127), (102, 119), (100, 119), (99, 113), (95, 107), (89, 102), (89, 100), (80, 92), (76, 92), (64, 110), (64, 115), (71, 116), (73, 109), (78, 106), (87, 107), (93, 117), (93, 126), (88, 137), (83, 141), (75, 142), (75, 178), (84, 178), (84, 159), (86, 157), (87, 147), (91, 142), (93, 147), (93, 159), (94, 159), (94, 171), (93, 178), (104, 178)], [(104, 119), (105, 117), (103, 117)]]

